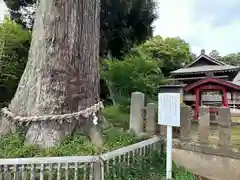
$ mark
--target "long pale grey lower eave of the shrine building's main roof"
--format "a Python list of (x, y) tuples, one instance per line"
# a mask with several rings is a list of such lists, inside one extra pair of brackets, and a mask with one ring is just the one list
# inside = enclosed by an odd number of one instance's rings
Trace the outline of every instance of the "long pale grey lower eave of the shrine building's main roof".
[(171, 74), (194, 74), (194, 73), (204, 73), (204, 72), (219, 72), (219, 71), (239, 71), (240, 67), (231, 65), (203, 65), (181, 68), (172, 71)]

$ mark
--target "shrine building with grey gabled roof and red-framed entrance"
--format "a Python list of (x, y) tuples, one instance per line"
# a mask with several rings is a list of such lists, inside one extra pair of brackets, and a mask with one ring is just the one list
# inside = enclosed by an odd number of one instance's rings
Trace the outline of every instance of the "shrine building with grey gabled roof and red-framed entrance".
[(194, 119), (198, 119), (199, 106), (209, 106), (212, 113), (221, 106), (240, 112), (240, 67), (218, 61), (202, 50), (195, 61), (172, 71), (171, 78), (182, 86), (183, 102), (193, 107)]

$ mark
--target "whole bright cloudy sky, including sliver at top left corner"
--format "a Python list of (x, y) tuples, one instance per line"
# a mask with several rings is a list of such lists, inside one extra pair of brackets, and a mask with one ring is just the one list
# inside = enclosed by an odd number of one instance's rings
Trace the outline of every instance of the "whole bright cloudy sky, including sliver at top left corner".
[[(240, 52), (239, 0), (156, 0), (159, 18), (154, 35), (180, 37), (197, 55), (217, 50), (220, 55)], [(0, 0), (0, 20), (4, 12)]]

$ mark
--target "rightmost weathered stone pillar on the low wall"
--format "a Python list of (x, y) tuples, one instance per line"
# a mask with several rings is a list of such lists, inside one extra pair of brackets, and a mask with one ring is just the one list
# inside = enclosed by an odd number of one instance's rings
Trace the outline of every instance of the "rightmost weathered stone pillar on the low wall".
[(230, 109), (227, 107), (219, 108), (218, 120), (218, 144), (221, 147), (229, 147), (232, 144), (232, 127)]

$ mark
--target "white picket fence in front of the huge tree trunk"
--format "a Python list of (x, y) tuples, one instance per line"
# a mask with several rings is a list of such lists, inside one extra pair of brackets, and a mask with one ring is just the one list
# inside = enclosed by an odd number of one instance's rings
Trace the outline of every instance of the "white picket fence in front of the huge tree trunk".
[[(155, 136), (99, 156), (0, 159), (0, 180), (119, 179), (123, 171), (135, 166), (137, 157), (148, 157), (160, 142)], [(140, 166), (147, 167), (146, 163)]]

